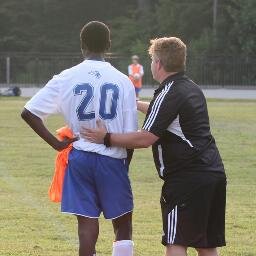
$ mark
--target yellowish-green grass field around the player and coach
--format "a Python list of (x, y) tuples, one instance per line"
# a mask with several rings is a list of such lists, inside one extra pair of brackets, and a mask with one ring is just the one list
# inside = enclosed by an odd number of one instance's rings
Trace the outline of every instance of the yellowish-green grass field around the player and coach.
[[(56, 152), (20, 118), (25, 99), (0, 98), (0, 255), (77, 255), (76, 220), (59, 213), (47, 191)], [(228, 175), (223, 256), (256, 255), (256, 101), (208, 101), (212, 132)], [(142, 121), (142, 116), (140, 119)], [(63, 126), (52, 117), (47, 126)], [(158, 178), (151, 150), (137, 150), (130, 176), (135, 197), (136, 256), (160, 256)], [(111, 223), (101, 220), (97, 251), (111, 255)], [(189, 250), (189, 255), (196, 255)]]

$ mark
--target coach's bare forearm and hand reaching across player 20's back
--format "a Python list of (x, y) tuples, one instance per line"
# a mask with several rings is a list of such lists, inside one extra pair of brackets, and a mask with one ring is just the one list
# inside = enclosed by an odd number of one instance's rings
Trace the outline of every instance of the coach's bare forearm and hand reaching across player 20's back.
[[(100, 121), (97, 121), (97, 126), (96, 129), (82, 129), (80, 135), (91, 142), (103, 144), (107, 130)], [(110, 144), (116, 147), (147, 148), (158, 139), (159, 137), (145, 130), (125, 134), (111, 133)]]

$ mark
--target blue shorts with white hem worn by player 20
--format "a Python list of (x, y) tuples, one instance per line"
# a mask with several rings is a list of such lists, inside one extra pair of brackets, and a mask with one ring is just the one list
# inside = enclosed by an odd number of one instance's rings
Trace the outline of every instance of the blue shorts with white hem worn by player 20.
[(72, 149), (65, 174), (61, 211), (89, 218), (115, 219), (133, 210), (128, 164)]

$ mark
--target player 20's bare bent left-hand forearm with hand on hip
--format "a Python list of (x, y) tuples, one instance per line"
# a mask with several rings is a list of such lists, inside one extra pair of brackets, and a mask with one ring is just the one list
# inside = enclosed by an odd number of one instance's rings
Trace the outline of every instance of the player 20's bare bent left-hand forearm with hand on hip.
[(69, 146), (69, 144), (73, 143), (77, 140), (77, 138), (65, 139), (63, 141), (59, 141), (50, 131), (45, 127), (43, 121), (28, 111), (27, 109), (23, 109), (21, 113), (21, 117), (24, 121), (51, 147), (55, 150), (61, 151)]

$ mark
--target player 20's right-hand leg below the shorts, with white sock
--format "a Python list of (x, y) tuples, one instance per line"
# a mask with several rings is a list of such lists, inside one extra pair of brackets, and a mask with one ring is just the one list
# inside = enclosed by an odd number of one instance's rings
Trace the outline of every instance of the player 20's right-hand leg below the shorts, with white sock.
[(132, 213), (112, 220), (116, 241), (112, 256), (133, 256)]

